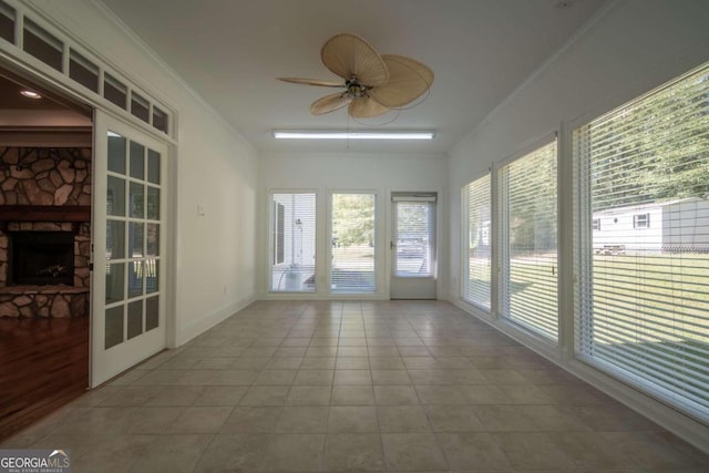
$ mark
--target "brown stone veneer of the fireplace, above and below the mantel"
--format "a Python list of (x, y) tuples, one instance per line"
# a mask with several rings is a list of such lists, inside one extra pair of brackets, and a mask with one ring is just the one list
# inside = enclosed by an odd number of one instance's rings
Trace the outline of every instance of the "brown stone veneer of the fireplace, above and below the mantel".
[[(12, 205), (91, 205), (91, 148), (9, 148), (0, 161), (0, 206)], [(74, 232), (74, 286), (7, 285), (8, 233), (20, 230)], [(0, 227), (0, 317), (89, 316), (90, 260), (89, 223), (6, 223)]]

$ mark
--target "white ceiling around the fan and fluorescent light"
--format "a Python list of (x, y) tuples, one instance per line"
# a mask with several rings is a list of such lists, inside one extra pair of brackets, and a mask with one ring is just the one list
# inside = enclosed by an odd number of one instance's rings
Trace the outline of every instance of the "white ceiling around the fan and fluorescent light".
[[(430, 143), (350, 143), (350, 151), (445, 154), (604, 0), (102, 0), (261, 152), (340, 152), (341, 142), (277, 142), (274, 128), (373, 128), (309, 105), (331, 89), (277, 76), (337, 79), (320, 62), (339, 32), (428, 64), (431, 93), (383, 128), (433, 128)], [(566, 4), (561, 8), (561, 4)]]

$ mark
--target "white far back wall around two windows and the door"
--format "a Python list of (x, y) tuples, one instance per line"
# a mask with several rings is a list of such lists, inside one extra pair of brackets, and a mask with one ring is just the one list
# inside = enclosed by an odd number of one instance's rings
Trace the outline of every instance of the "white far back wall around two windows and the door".
[[(389, 298), (389, 235), (391, 229), (390, 194), (398, 191), (439, 193), (439, 294), (443, 291), (446, 275), (446, 210), (448, 192), (445, 156), (409, 154), (265, 154), (260, 156), (258, 184), (258, 296), (259, 298), (292, 298), (292, 295), (268, 294), (268, 192), (273, 189), (317, 192), (317, 246), (318, 259), (316, 294), (304, 295), (309, 299), (330, 298), (327, 292), (326, 245), (327, 206), (333, 191), (367, 191), (377, 193), (378, 225), (377, 267), (378, 291), (363, 298)], [(441, 234), (444, 232), (444, 234)], [(341, 299), (341, 295), (332, 296)]]

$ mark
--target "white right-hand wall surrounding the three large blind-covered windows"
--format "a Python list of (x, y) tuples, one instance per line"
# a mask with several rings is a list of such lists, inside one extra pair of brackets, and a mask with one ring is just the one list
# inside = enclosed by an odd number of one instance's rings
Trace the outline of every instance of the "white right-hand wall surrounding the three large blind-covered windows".
[[(565, 49), (497, 106), (451, 153), (450, 299), (506, 331), (577, 376), (662, 423), (703, 449), (709, 429), (590, 370), (573, 357), (573, 305), (569, 295), (571, 155), (568, 133), (593, 119), (709, 59), (709, 3), (705, 0), (620, 0), (608, 7)], [(549, 348), (508, 325), (475, 312), (460, 299), (460, 189), (487, 168), (559, 131), (559, 228), (562, 267), (562, 347)], [(699, 439), (699, 440), (698, 440)], [(700, 440), (705, 439), (705, 440)]]

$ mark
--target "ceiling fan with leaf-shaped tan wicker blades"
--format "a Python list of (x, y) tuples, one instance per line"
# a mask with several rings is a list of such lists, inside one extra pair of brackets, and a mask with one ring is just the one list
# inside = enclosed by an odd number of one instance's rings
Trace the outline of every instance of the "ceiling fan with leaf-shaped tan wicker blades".
[(330, 38), (320, 50), (326, 68), (343, 79), (278, 78), (284, 82), (343, 89), (316, 100), (314, 115), (348, 107), (354, 119), (370, 119), (401, 109), (429, 90), (433, 71), (417, 60), (397, 54), (379, 54), (364, 39), (350, 33)]

